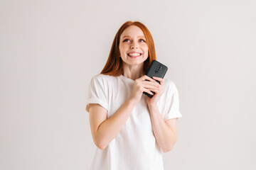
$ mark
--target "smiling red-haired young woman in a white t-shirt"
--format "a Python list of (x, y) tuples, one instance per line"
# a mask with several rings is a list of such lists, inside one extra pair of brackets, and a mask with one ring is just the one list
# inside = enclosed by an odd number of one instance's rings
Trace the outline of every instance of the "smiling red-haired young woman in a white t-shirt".
[(86, 111), (97, 146), (92, 170), (164, 169), (161, 151), (174, 147), (182, 115), (174, 82), (145, 75), (152, 60), (156, 52), (146, 26), (124, 23), (104, 69), (90, 83)]

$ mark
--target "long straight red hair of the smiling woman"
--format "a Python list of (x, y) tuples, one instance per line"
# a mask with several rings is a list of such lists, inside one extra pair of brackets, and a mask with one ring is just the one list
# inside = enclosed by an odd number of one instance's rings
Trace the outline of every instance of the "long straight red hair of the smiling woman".
[(124, 73), (124, 70), (122, 68), (122, 58), (120, 57), (120, 51), (119, 51), (119, 41), (120, 41), (120, 36), (122, 32), (129, 26), (137, 26), (141, 28), (146, 38), (146, 45), (148, 46), (149, 54), (148, 54), (148, 58), (144, 61), (143, 74), (146, 74), (146, 70), (149, 68), (149, 65), (151, 64), (151, 62), (153, 60), (156, 60), (156, 50), (154, 47), (154, 40), (148, 28), (146, 28), (146, 26), (144, 26), (144, 24), (140, 23), (139, 21), (134, 21), (134, 22), (127, 21), (117, 31), (117, 34), (115, 35), (112, 43), (112, 47), (110, 50), (110, 55), (107, 59), (107, 63), (105, 64), (105, 67), (102, 69), (102, 72), (100, 74), (107, 74), (107, 75), (112, 75), (114, 77), (117, 77)]

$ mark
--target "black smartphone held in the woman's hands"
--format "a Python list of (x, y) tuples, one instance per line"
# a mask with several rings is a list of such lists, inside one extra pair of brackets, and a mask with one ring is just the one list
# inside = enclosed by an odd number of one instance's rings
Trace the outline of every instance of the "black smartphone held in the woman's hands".
[[(157, 62), (156, 60), (153, 60), (149, 66), (149, 69), (146, 71), (146, 76), (150, 77), (151, 79), (153, 79), (152, 77), (160, 77), (160, 78), (164, 78), (164, 75), (167, 72), (168, 67), (166, 67), (164, 64), (161, 64), (160, 62)], [(149, 81), (149, 80), (146, 80)], [(159, 81), (155, 80), (156, 82), (158, 82), (160, 84)], [(151, 91), (153, 94), (154, 91)], [(146, 94), (146, 96), (149, 97), (153, 97), (154, 95), (148, 94), (146, 92), (143, 92), (143, 94)]]

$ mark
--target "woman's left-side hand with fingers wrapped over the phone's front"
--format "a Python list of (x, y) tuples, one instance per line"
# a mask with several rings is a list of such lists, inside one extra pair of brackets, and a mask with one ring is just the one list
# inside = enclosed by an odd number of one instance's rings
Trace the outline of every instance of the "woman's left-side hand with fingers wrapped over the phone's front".
[(159, 87), (160, 84), (158, 84), (154, 79), (151, 79), (150, 77), (144, 75), (134, 81), (134, 87), (132, 89), (132, 94), (129, 99), (135, 101), (136, 103), (139, 103), (139, 101), (142, 99), (142, 94), (144, 91), (148, 94), (154, 95), (151, 92), (151, 89), (159, 89)]

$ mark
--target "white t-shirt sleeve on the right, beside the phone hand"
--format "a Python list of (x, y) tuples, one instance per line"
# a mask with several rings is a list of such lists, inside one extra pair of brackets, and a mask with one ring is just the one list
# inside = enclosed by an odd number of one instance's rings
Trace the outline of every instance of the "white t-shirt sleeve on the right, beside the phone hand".
[(179, 109), (178, 89), (176, 88), (176, 85), (173, 82), (167, 89), (165, 111), (166, 114), (164, 115), (164, 120), (182, 117)]

